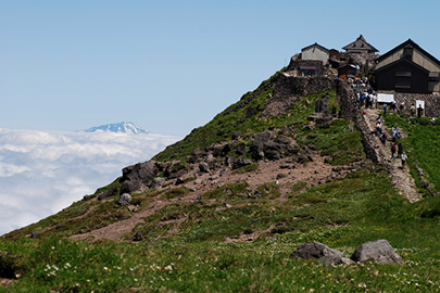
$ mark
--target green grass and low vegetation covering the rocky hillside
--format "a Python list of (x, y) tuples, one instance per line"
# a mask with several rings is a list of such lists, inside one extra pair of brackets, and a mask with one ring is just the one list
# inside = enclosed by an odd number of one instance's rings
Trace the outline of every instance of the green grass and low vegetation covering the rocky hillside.
[[(351, 122), (312, 126), (307, 120), (316, 99), (329, 95), (330, 106), (339, 107), (334, 91), (298, 97), (285, 114), (260, 120), (273, 94), (273, 78), (155, 158), (178, 160), (166, 166), (173, 174), (191, 167), (186, 157), (194, 148), (203, 150), (229, 140), (236, 131), (242, 131), (249, 146), (254, 133), (289, 126), (292, 131), (282, 135), (292, 137), (301, 152), (320, 152), (334, 166), (364, 161), (361, 136)], [(246, 118), (249, 107), (256, 114)], [(397, 114), (389, 114), (386, 123), (408, 133), (402, 142), (420, 190), (425, 189), (417, 166), (437, 191), (440, 126)], [(0, 239), (0, 277), (17, 278), (10, 286), (0, 286), (0, 292), (440, 291), (440, 196), (424, 191), (429, 196), (411, 204), (393, 189), (382, 166), (364, 163), (363, 169), (343, 179), (315, 187), (261, 182), (255, 191), (238, 181), (218, 186), (197, 201), (168, 202), (148, 214), (122, 242), (70, 240), (72, 234), (133, 216), (127, 207), (115, 204), (116, 196), (76, 202)], [(257, 167), (244, 166), (234, 174)], [(165, 170), (160, 176), (166, 176)], [(96, 194), (109, 188), (118, 190), (120, 178)], [(168, 186), (166, 191), (133, 194), (131, 203), (142, 209), (154, 200), (168, 201), (189, 192), (181, 186)], [(28, 237), (34, 230), (40, 231), (37, 239)], [(137, 231), (146, 238), (130, 242)], [(299, 244), (312, 240), (350, 257), (359, 245), (378, 239), (387, 239), (406, 265), (366, 262), (331, 267), (289, 258)]]

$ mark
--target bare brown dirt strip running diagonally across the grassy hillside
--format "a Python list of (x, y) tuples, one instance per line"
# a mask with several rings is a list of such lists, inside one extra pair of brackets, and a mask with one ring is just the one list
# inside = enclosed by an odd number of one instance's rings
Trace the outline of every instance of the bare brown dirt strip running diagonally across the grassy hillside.
[[(91, 238), (93, 241), (98, 241), (100, 239), (113, 241), (121, 240), (126, 234), (134, 234), (133, 229), (136, 227), (136, 225), (143, 222), (147, 217), (159, 212), (164, 206), (176, 203), (177, 201), (198, 201), (198, 198), (203, 195), (205, 192), (216, 189), (223, 184), (234, 182), (247, 182), (249, 184), (248, 190), (251, 191), (256, 190), (257, 187), (263, 183), (278, 183), (281, 193), (278, 200), (280, 204), (282, 204), (288, 200), (286, 195), (291, 191), (291, 186), (294, 183), (307, 182), (309, 187), (316, 186), (325, 183), (326, 180), (342, 178), (356, 168), (359, 168), (359, 165), (348, 165), (336, 170), (331, 165), (325, 163), (325, 157), (316, 154), (313, 156), (313, 162), (309, 162), (307, 164), (290, 163), (289, 158), (279, 161), (262, 161), (259, 164), (257, 170), (246, 174), (232, 175), (230, 170), (227, 170), (223, 175), (221, 175), (221, 170), (206, 174), (197, 174), (196, 171), (192, 171), (187, 174), (186, 177), (197, 176), (198, 180), (185, 184), (187, 188), (193, 190), (186, 196), (163, 201), (159, 199), (159, 195), (148, 207), (135, 213), (130, 218), (111, 224), (106, 227), (92, 230), (87, 233), (72, 235), (71, 239), (85, 240)], [(174, 188), (174, 186), (167, 187), (164, 190), (169, 188)], [(176, 220), (176, 224), (179, 225), (178, 220)], [(178, 228), (171, 231), (172, 234), (177, 232)], [(249, 239), (252, 238), (252, 235), (244, 235), (243, 238)]]

